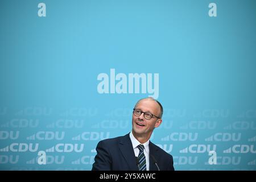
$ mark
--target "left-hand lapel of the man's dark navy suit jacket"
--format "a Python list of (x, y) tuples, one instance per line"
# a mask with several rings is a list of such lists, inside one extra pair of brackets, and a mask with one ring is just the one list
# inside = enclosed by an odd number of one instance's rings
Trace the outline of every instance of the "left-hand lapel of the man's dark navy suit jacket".
[(125, 161), (128, 164), (130, 170), (137, 171), (138, 167), (136, 164), (133, 144), (131, 144), (129, 134), (125, 135), (123, 138), (120, 139), (119, 149), (123, 155), (123, 158), (125, 158)]

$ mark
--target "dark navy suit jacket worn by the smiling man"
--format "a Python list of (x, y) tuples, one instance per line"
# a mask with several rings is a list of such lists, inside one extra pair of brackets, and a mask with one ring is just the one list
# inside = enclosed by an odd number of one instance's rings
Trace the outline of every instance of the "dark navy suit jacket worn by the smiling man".
[[(172, 156), (149, 143), (150, 155), (155, 157), (160, 171), (174, 171)], [(101, 140), (96, 147), (97, 155), (92, 170), (100, 171), (137, 171), (137, 163), (129, 134), (123, 137)], [(150, 171), (157, 171), (154, 160), (150, 156)]]

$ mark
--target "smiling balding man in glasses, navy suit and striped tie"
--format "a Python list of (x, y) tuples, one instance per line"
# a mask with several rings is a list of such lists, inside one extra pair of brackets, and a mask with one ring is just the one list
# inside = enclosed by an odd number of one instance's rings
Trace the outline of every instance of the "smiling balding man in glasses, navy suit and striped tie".
[(131, 133), (101, 140), (92, 170), (174, 171), (172, 156), (150, 142), (162, 123), (163, 107), (154, 98), (139, 100), (134, 107)]

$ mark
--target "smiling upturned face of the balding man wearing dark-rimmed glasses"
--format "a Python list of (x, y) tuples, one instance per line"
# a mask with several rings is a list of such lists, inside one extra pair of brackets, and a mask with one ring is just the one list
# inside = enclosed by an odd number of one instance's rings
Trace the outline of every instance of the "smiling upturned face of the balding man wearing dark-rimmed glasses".
[[(151, 114), (159, 117), (160, 114), (160, 106), (154, 100), (144, 99), (139, 101), (135, 109), (139, 109), (143, 112), (149, 112)], [(142, 113), (139, 117), (133, 114), (133, 133), (138, 137), (150, 137), (154, 128), (158, 127), (162, 119), (158, 119), (156, 117), (152, 117), (151, 119), (145, 119), (144, 113)]]

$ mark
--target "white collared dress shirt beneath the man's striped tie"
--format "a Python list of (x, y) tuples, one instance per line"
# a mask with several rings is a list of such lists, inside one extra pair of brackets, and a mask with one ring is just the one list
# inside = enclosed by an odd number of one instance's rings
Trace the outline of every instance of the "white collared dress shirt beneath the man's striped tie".
[[(135, 156), (138, 157), (139, 155), (139, 148), (137, 147), (139, 144), (143, 144), (144, 146), (144, 155), (146, 157), (146, 168), (147, 168), (147, 171), (149, 171), (149, 142), (150, 140), (148, 139), (146, 143), (139, 143), (139, 141), (134, 137), (133, 133), (130, 132), (130, 139), (131, 139), (131, 144), (133, 144), (133, 150), (134, 150), (134, 154)], [(134, 159), (135, 160), (135, 159)]]

